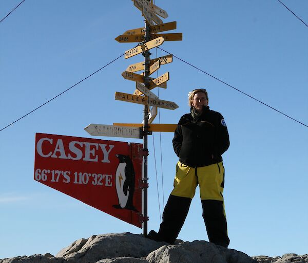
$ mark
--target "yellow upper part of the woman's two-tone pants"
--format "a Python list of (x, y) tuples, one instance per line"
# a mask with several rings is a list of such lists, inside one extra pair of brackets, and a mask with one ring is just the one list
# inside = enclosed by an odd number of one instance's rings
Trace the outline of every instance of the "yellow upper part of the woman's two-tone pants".
[(199, 184), (201, 200), (223, 201), (224, 167), (222, 162), (192, 168), (178, 162), (171, 194), (192, 199)]

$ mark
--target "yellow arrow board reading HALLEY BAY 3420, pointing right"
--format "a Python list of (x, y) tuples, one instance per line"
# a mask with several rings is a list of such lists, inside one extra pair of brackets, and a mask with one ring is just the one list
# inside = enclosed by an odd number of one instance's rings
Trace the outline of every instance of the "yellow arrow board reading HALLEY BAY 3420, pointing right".
[(122, 93), (122, 92), (115, 92), (114, 98), (116, 100), (122, 100), (126, 102), (132, 102), (132, 103), (143, 104), (143, 105), (148, 104), (150, 106), (156, 106), (156, 107), (167, 108), (167, 109), (176, 109), (179, 107), (177, 103), (173, 101), (157, 100), (157, 99), (152, 99), (152, 98), (148, 98), (145, 96), (137, 96), (137, 95)]

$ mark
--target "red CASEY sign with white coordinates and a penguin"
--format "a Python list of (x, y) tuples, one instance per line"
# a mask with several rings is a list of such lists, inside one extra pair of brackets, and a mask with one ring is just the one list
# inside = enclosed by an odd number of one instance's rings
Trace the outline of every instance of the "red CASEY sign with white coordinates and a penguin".
[(36, 134), (34, 180), (142, 228), (142, 144)]

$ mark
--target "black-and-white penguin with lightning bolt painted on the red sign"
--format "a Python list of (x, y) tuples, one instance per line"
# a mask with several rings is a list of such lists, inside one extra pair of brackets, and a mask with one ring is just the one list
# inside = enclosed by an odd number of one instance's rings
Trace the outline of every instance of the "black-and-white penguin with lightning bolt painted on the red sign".
[(135, 184), (135, 172), (133, 164), (126, 155), (115, 155), (120, 163), (115, 172), (115, 189), (119, 199), (118, 205), (113, 205), (114, 208), (126, 208), (129, 210), (139, 212), (132, 205), (132, 198)]

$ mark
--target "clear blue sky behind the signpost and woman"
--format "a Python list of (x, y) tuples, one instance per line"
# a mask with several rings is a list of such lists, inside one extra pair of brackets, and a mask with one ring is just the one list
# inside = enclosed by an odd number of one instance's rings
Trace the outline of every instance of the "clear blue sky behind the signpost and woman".
[[(0, 18), (20, 2), (2, 0)], [(307, 24), (307, 1), (283, 3)], [(165, 22), (177, 21), (172, 32), (183, 32), (183, 41), (165, 41), (161, 48), (308, 125), (308, 28), (277, 0), (156, 5), (168, 12)], [(26, 0), (0, 23), (0, 129), (124, 54), (134, 43), (114, 38), (143, 25), (129, 0)], [(166, 55), (153, 50), (151, 58), (156, 52)], [(90, 123), (142, 121), (142, 105), (114, 100), (115, 91), (134, 91), (121, 73), (139, 61), (142, 55), (123, 56), (0, 132), (0, 258), (56, 254), (94, 234), (142, 233), (33, 180), (35, 133), (90, 137), (83, 129)], [(187, 94), (196, 87), (208, 90), (210, 108), (226, 121), (229, 248), (251, 256), (308, 253), (308, 128), (176, 58), (158, 74), (166, 71), (170, 80), (159, 96), (179, 108), (161, 109), (161, 123), (177, 123), (189, 111)], [(177, 162), (172, 137), (149, 137), (149, 230), (159, 228), (163, 196), (166, 202), (172, 189)], [(208, 240), (201, 214), (197, 191), (179, 238)]]

